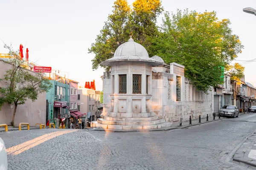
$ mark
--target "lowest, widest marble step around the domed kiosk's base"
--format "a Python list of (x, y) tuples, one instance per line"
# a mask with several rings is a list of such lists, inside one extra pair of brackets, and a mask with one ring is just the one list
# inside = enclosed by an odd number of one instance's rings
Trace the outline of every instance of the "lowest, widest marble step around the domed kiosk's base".
[(93, 122), (93, 127), (103, 128), (103, 129), (112, 129), (112, 130), (140, 130), (140, 129), (161, 129), (165, 127), (170, 127), (170, 122), (164, 122), (157, 125), (105, 125), (98, 122)]

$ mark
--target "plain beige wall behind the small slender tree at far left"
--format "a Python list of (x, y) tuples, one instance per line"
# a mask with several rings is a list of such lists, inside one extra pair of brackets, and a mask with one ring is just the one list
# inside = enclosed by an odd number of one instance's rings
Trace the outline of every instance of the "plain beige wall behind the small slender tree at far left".
[[(0, 68), (0, 79), (3, 79), (6, 71), (12, 69), (12, 65), (0, 59)], [(32, 71), (31, 73), (35, 74)], [(0, 87), (5, 87), (3, 81), (0, 81)], [(3, 105), (0, 111), (0, 124), (9, 125), (12, 121), (13, 111), (14, 105)], [(14, 124), (18, 125), (21, 122), (29, 123), (30, 126), (35, 126), (35, 123), (46, 123), (46, 93), (39, 94), (35, 102), (27, 99), (24, 105), (17, 106)]]

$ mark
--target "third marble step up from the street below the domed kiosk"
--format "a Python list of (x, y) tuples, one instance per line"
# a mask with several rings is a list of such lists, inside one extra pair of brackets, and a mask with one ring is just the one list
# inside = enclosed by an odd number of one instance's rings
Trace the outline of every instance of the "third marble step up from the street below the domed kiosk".
[(152, 121), (158, 120), (159, 116), (154, 117), (111, 117), (111, 116), (103, 116), (105, 120), (111, 121), (126, 121), (126, 122), (134, 122), (134, 121)]

